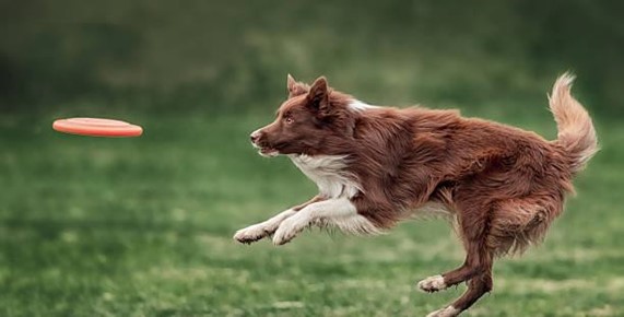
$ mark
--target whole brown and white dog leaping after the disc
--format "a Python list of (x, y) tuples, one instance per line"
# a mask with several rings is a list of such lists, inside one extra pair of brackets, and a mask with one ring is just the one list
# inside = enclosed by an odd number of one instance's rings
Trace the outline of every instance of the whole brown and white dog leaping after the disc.
[(573, 80), (564, 74), (554, 84), (549, 101), (558, 134), (546, 141), (457, 110), (370, 106), (322, 77), (307, 85), (289, 75), (289, 98), (251, 142), (263, 156), (287, 155), (319, 193), (234, 238), (272, 236), (283, 245), (314, 225), (375, 234), (413, 215), (443, 214), (466, 261), (417, 286), (436, 292), (467, 281), (461, 297), (428, 315), (457, 316), (492, 290), (496, 257), (544, 237), (573, 177), (598, 151), (591, 118), (570, 95)]

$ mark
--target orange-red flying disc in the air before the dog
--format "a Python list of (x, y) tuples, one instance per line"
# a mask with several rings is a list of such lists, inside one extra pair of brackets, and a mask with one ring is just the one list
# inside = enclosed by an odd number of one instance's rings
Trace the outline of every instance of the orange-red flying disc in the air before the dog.
[(71, 134), (89, 137), (139, 137), (143, 128), (126, 121), (102, 118), (69, 118), (58, 119), (52, 124), (52, 129)]

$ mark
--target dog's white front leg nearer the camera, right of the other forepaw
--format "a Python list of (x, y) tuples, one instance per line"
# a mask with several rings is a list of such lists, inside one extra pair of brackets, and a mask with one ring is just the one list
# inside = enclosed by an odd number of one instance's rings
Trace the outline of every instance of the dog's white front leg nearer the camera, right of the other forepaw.
[(343, 197), (310, 203), (293, 216), (284, 220), (275, 231), (273, 244), (283, 245), (313, 224), (335, 226), (345, 233), (353, 234), (376, 234), (380, 232), (372, 222), (357, 213), (357, 209), (349, 198)]

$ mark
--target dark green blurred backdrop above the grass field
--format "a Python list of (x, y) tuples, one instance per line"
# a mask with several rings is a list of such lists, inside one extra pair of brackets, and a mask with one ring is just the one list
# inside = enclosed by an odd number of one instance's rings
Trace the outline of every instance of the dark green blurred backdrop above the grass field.
[(624, 114), (623, 1), (0, 1), (0, 110), (273, 108), (285, 74), (372, 103), (540, 103), (572, 70)]

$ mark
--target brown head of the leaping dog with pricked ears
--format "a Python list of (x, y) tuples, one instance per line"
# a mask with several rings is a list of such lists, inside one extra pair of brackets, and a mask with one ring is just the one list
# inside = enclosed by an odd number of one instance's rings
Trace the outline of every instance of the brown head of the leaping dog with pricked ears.
[(286, 85), (289, 98), (278, 109), (275, 120), (250, 136), (260, 155), (329, 154), (328, 146), (352, 134), (349, 96), (331, 91), (323, 77), (307, 85), (289, 74)]

